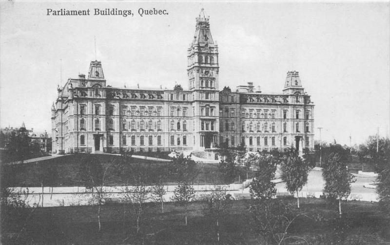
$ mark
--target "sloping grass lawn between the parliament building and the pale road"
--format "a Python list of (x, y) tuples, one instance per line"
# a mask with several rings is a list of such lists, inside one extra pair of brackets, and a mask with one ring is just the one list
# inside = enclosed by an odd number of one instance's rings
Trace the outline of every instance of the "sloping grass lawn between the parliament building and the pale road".
[[(102, 162), (109, 162), (118, 157), (115, 155), (99, 155)], [(154, 175), (165, 173), (167, 175), (166, 183), (176, 184), (176, 176), (168, 173), (169, 162), (133, 158), (133, 163), (141, 163), (142, 166), (147, 168), (151, 179)], [(9, 186), (40, 187), (42, 179), (44, 186), (82, 186), (83, 183), (78, 175), (80, 164), (82, 164), (82, 161), (77, 155), (65, 155), (36, 163), (1, 165), (0, 175), (3, 180), (8, 181)], [(218, 165), (197, 163), (196, 173), (194, 184), (215, 184), (219, 175)], [(249, 177), (253, 176), (254, 172), (251, 171)], [(242, 172), (240, 178), (237, 175), (234, 182), (238, 182), (238, 180), (242, 182), (245, 177), (246, 173)], [(48, 179), (51, 180), (48, 181)], [(109, 185), (122, 185), (120, 178), (114, 173), (109, 176), (109, 179), (111, 180)]]

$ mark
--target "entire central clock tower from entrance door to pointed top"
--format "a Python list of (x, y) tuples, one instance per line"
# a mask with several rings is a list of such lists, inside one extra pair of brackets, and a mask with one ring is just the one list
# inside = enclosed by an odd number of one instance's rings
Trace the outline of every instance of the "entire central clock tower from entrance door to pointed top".
[(214, 148), (219, 144), (218, 46), (203, 9), (196, 18), (195, 35), (187, 58), (188, 88), (193, 95), (193, 149)]

